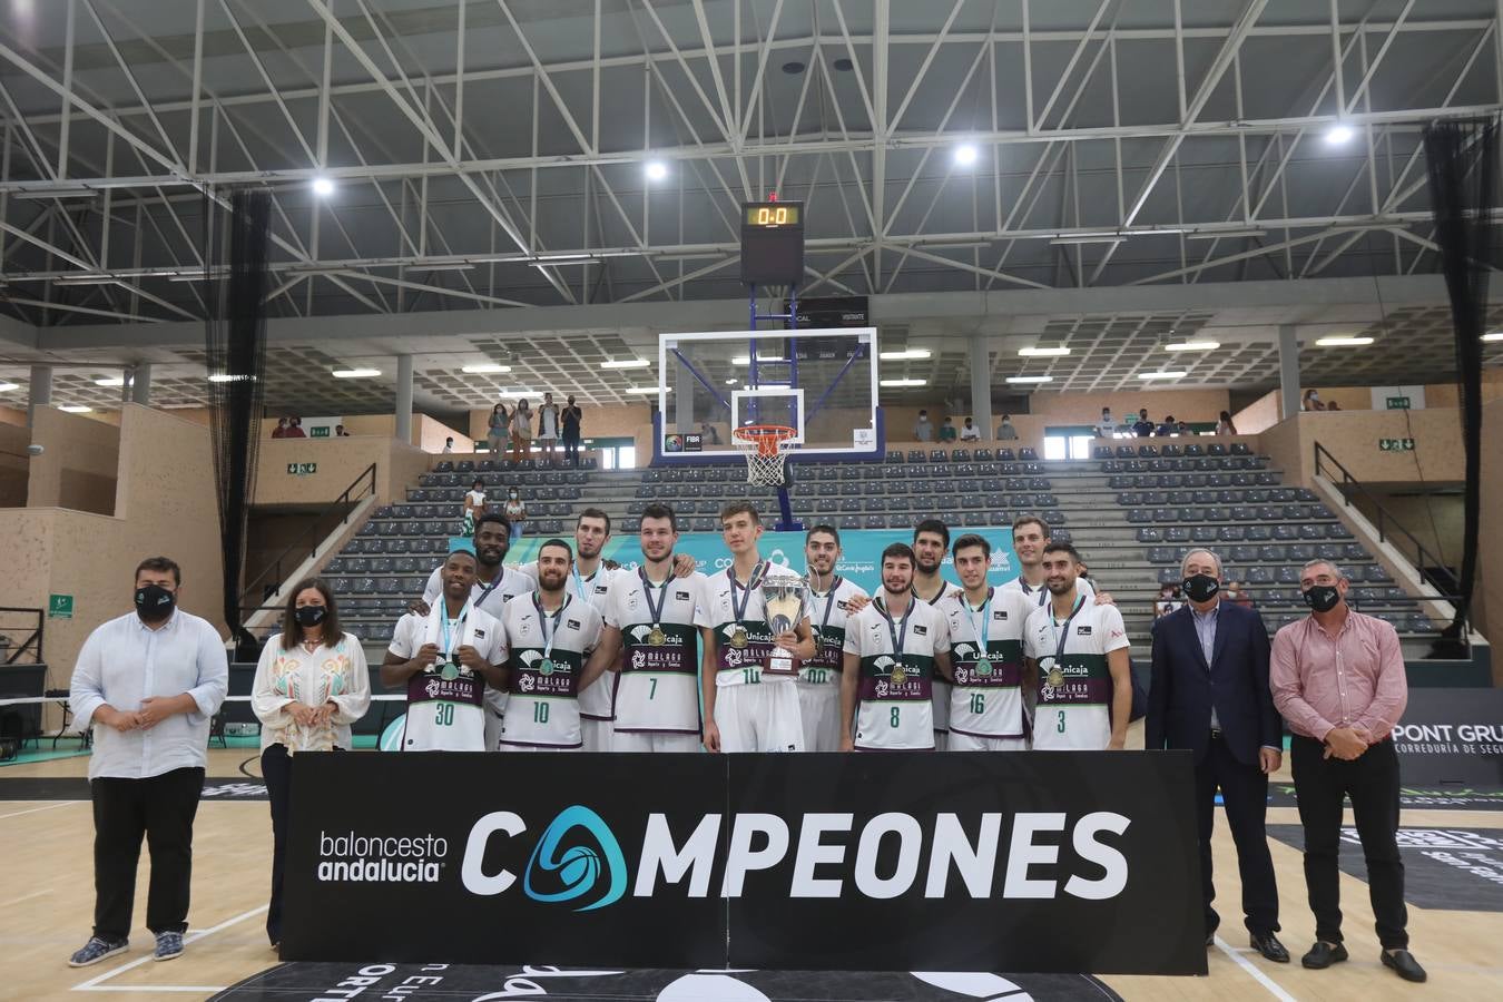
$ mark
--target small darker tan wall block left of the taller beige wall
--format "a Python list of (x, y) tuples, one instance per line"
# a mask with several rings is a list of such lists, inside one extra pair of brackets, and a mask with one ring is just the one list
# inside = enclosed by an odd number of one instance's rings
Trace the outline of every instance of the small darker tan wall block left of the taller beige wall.
[(32, 457), (29, 506), (114, 514), (120, 463), (117, 427), (39, 407), (32, 442), (42, 446), (42, 455)]

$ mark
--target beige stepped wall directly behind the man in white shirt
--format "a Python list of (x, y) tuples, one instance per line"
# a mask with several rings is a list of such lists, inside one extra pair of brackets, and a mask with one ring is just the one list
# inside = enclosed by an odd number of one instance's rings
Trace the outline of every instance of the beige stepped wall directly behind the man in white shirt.
[(170, 412), (126, 406), (116, 484), (114, 515), (38, 506), (0, 511), (6, 604), (45, 608), (48, 595), (74, 596), (72, 619), (47, 620), (51, 685), (68, 685), (95, 626), (131, 610), (132, 572), (143, 557), (177, 560), (182, 607), (224, 628), (207, 430)]

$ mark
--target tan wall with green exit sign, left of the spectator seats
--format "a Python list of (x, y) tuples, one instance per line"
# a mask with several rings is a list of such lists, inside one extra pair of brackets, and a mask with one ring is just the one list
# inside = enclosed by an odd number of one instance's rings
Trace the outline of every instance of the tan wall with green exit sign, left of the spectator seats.
[[(262, 442), (256, 478), (257, 505), (323, 505), (349, 487), (361, 470), (376, 464), (376, 496), (386, 505), (400, 500), (409, 484), (428, 470), (433, 457), (389, 437), (277, 439)], [(287, 473), (295, 463), (314, 463), (317, 472)]]

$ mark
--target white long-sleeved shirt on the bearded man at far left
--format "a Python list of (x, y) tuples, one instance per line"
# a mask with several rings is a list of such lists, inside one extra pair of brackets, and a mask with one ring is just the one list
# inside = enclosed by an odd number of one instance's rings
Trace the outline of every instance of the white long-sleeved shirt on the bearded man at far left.
[(108, 703), (122, 714), (152, 696), (192, 696), (197, 711), (173, 714), (149, 730), (95, 727), (89, 778), (146, 780), (207, 765), (209, 718), (230, 687), (224, 640), (207, 619), (174, 610), (152, 629), (135, 613), (98, 626), (74, 665), (68, 703), (81, 732)]

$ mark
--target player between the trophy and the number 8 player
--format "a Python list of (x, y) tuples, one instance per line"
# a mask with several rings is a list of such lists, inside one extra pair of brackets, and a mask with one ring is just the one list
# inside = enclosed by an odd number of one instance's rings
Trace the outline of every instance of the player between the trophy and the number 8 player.
[(809, 622), (815, 656), (798, 669), (798, 718), (804, 724), (804, 751), (840, 751), (840, 672), (845, 667), (846, 622), (851, 599), (867, 598), (861, 586), (836, 574), (840, 533), (815, 526), (804, 536), (809, 568)]

